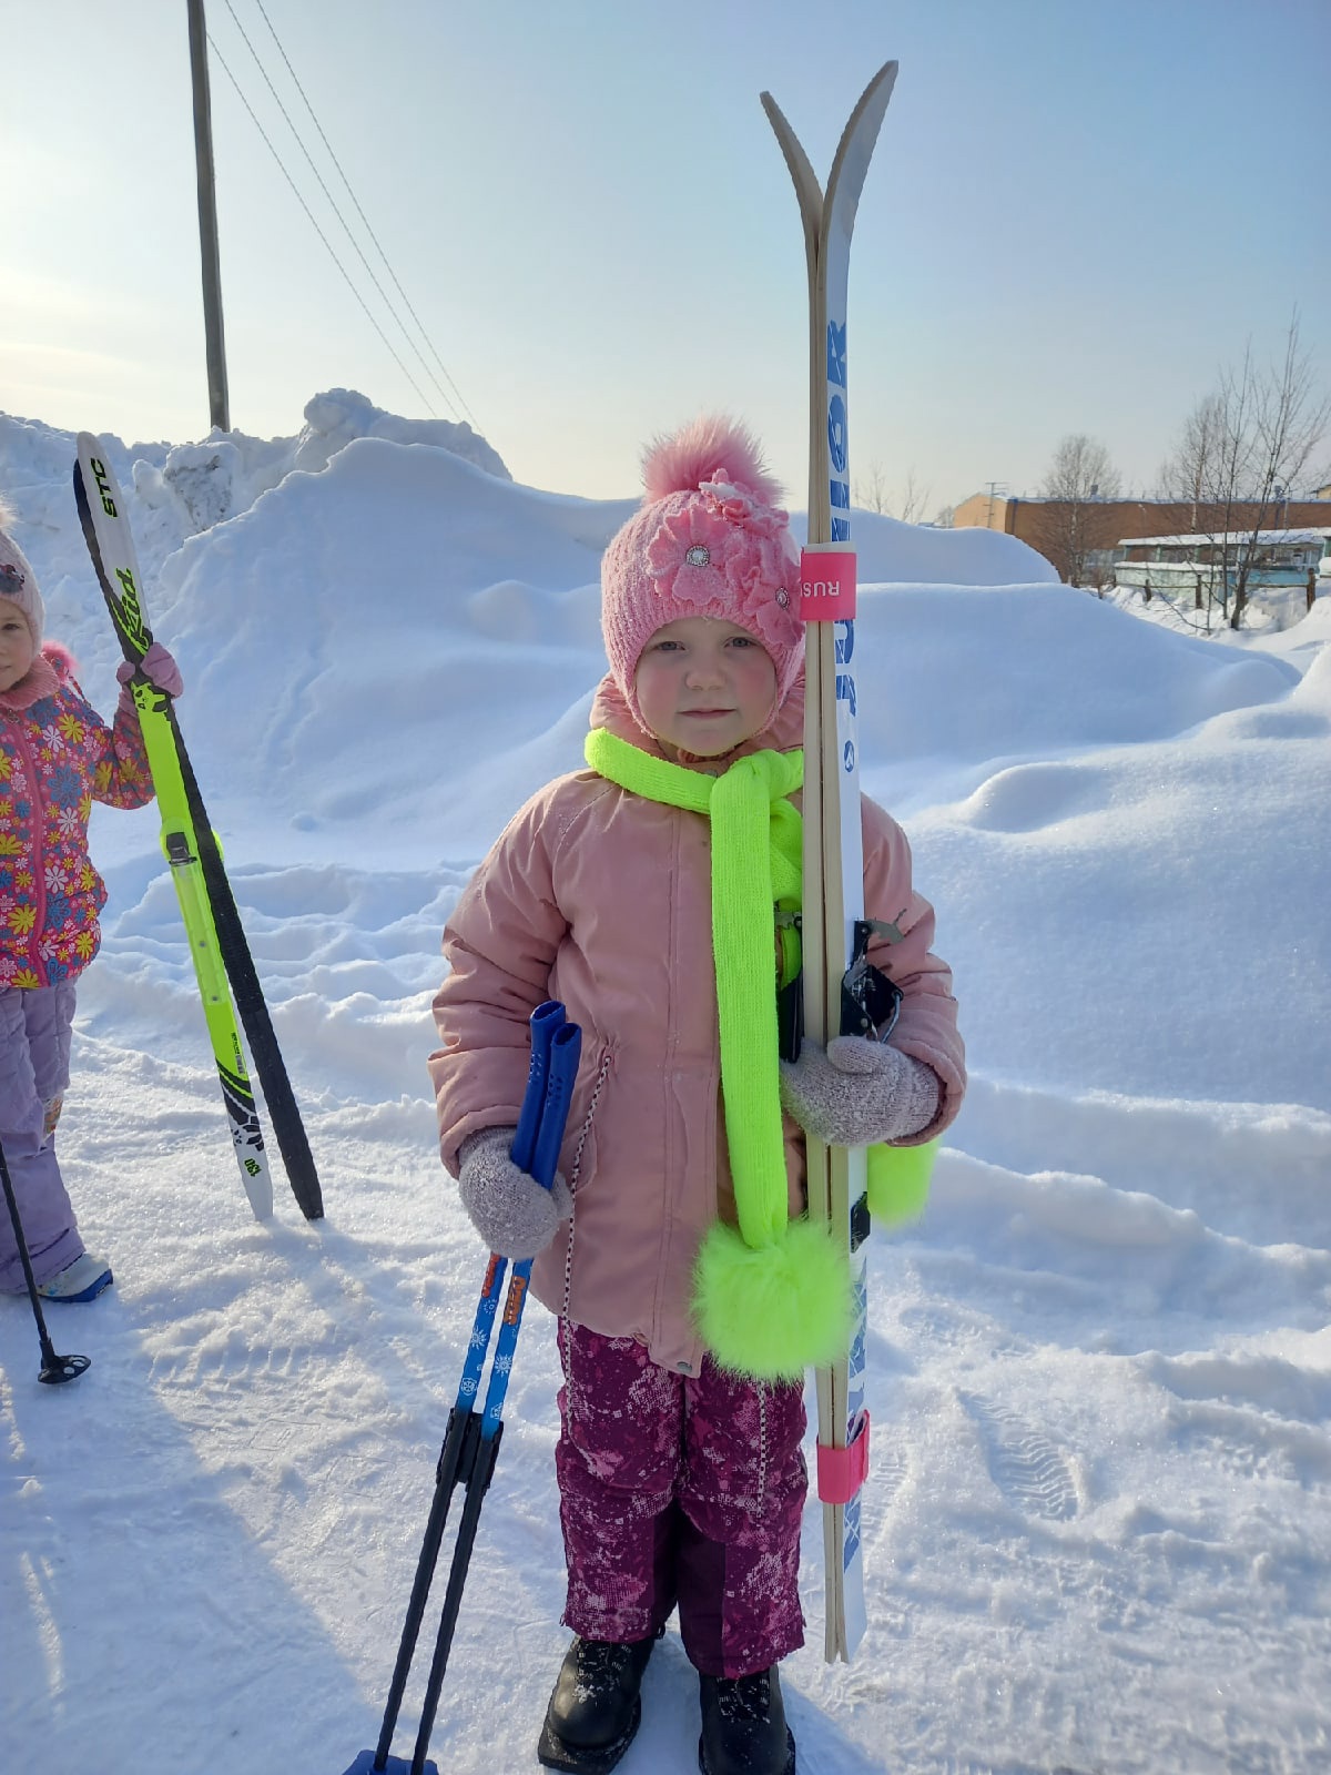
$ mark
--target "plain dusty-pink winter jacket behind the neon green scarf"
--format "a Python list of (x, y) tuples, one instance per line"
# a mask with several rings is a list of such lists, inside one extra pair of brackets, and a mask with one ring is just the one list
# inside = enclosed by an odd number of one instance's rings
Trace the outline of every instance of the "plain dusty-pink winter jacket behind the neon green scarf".
[[(740, 751), (800, 744), (802, 690)], [(591, 712), (655, 746), (607, 678)], [(738, 753), (736, 753), (738, 756)], [(893, 1044), (942, 1083), (941, 1132), (965, 1090), (951, 974), (930, 953), (933, 912), (910, 886), (905, 834), (864, 799), (864, 903), (902, 943), (870, 958), (903, 992)], [(449, 976), (435, 998), (442, 1045), (429, 1058), (444, 1164), (483, 1127), (516, 1125), (527, 1083), (527, 1019), (561, 999), (582, 1026), (582, 1063), (559, 1168), (573, 1218), (532, 1267), (554, 1314), (635, 1337), (653, 1361), (697, 1374), (689, 1315), (697, 1246), (735, 1219), (721, 1111), (712, 964), (712, 856), (705, 815), (646, 801), (591, 770), (557, 777), (509, 822), (444, 932)], [(776, 989), (776, 987), (774, 987)], [(804, 1212), (804, 1136), (786, 1118), (792, 1214)]]

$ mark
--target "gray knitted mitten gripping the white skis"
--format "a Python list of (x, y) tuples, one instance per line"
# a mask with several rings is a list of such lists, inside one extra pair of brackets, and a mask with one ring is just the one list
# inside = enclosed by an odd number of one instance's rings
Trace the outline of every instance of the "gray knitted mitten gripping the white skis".
[(829, 1147), (877, 1147), (923, 1132), (939, 1113), (932, 1067), (887, 1042), (838, 1035), (827, 1051), (806, 1040), (781, 1061), (781, 1102), (806, 1134)]

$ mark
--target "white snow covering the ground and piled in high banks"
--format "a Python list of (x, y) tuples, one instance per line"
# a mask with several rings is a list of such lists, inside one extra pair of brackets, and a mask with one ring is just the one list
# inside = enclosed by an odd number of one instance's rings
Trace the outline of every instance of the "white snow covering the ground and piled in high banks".
[[(438, 935), (580, 761), (628, 502), (516, 486), (339, 392), (311, 414), (110, 454), (328, 1216), (275, 1163), (250, 1218), (156, 816), (98, 809), (60, 1143), (117, 1285), (50, 1310), (92, 1356), (59, 1390), (0, 1303), (5, 1768), (343, 1775), (374, 1743), (481, 1280), (426, 1095)], [(73, 460), (0, 417), (50, 632), (108, 710)], [(925, 1221), (873, 1244), (871, 1626), (823, 1665), (811, 1509), (800, 1771), (1327, 1770), (1331, 600), (1244, 646), (1059, 588), (1012, 538), (862, 517), (857, 541), (866, 783), (939, 907), (973, 1086)], [(440, 1770), (536, 1766), (554, 1388), (534, 1310)], [(694, 1768), (673, 1635), (644, 1699), (625, 1775)]]

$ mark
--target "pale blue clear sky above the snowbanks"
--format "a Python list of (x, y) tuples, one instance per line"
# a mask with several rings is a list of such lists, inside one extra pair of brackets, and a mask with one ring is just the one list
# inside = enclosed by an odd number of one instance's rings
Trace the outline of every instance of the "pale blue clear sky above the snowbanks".
[[(889, 57), (850, 277), (857, 481), (877, 470), (898, 504), (914, 483), (932, 515), (988, 481), (1035, 492), (1058, 438), (1090, 431), (1148, 486), (1217, 369), (1249, 339), (1278, 351), (1296, 307), (1331, 373), (1326, 0), (208, 0), (319, 225), (454, 417), (245, 46), (241, 27), (355, 218), (264, 12), (470, 415), (531, 485), (632, 493), (646, 437), (726, 408), (802, 501), (804, 254), (758, 94), (825, 176)], [(16, 7), (4, 34), (0, 410), (195, 438), (185, 4)], [(327, 387), (428, 415), (217, 62), (213, 131), (232, 424), (291, 435)]]

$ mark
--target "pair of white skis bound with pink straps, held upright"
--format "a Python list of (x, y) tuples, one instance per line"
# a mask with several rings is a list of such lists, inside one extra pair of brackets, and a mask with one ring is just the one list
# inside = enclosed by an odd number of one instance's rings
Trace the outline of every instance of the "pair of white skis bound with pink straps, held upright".
[[(855, 557), (850, 550), (847, 453), (847, 273), (850, 234), (896, 62), (880, 67), (850, 114), (827, 190), (776, 101), (763, 108), (795, 181), (809, 272), (809, 532), (800, 566), (807, 619), (804, 714), (804, 1028), (825, 1044), (848, 1033), (841, 980), (864, 916), (855, 744)], [(862, 944), (862, 935), (859, 937)], [(864, 1340), (868, 1290), (864, 1150), (809, 1138), (809, 1214), (827, 1219), (852, 1266), (855, 1322), (848, 1356), (820, 1369), (818, 1496), (823, 1502), (829, 1661), (850, 1660), (864, 1635), (859, 1495), (868, 1471)]]

